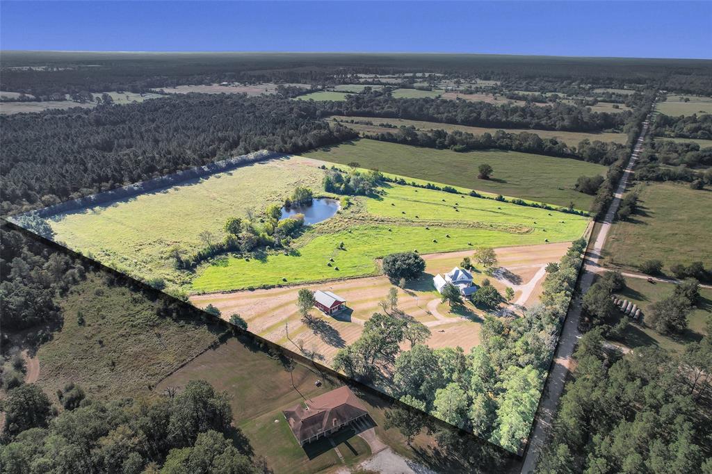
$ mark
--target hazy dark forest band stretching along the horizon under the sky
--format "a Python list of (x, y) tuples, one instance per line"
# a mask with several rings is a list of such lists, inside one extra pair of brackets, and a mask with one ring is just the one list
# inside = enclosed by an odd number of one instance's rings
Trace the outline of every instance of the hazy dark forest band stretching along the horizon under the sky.
[[(325, 85), (353, 83), (358, 73), (429, 71), (443, 78), (498, 80), (509, 90), (567, 93), (603, 88), (674, 90), (712, 94), (706, 60), (542, 58), (534, 56), (284, 53), (77, 53), (6, 51), (0, 90), (36, 95), (128, 90), (221, 82)], [(414, 78), (411, 78), (413, 80)], [(418, 80), (423, 80), (421, 76)], [(46, 99), (44, 99), (46, 100)]]

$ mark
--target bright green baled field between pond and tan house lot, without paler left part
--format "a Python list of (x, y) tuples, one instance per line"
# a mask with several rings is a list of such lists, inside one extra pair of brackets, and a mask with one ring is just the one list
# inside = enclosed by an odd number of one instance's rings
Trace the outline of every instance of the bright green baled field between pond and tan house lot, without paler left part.
[(582, 216), (413, 186), (387, 186), (379, 199), (360, 202), (367, 213), (352, 211), (313, 226), (290, 253), (228, 256), (204, 265), (192, 289), (212, 293), (373, 275), (379, 271), (376, 259), (389, 253), (573, 241), (588, 222)]

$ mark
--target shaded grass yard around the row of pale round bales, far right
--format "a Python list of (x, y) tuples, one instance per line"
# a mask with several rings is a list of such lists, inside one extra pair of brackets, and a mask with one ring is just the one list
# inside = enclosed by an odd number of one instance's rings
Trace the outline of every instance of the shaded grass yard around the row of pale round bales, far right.
[[(646, 314), (646, 310), (654, 302), (673, 293), (675, 285), (672, 283), (648, 283), (641, 278), (626, 278), (627, 288), (617, 293), (620, 297), (634, 302)], [(649, 345), (656, 345), (670, 351), (681, 352), (684, 344), (698, 341), (706, 335), (708, 318), (712, 315), (712, 290), (701, 288), (701, 302), (689, 315), (689, 328), (681, 335), (673, 337), (660, 335), (658, 332), (643, 324), (631, 324), (624, 333), (622, 342), (633, 349)], [(615, 323), (615, 321), (613, 322)]]

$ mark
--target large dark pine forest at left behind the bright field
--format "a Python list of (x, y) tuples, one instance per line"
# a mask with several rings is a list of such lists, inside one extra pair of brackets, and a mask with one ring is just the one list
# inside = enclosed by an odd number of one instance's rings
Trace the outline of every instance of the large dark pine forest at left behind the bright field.
[(357, 137), (309, 102), (189, 94), (0, 117), (3, 214), (38, 209), (258, 149)]

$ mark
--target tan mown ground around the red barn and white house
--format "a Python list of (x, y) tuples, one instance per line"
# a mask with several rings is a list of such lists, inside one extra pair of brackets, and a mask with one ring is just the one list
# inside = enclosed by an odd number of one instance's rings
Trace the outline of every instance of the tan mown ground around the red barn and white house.
[[(500, 314), (506, 309), (520, 313), (522, 307), (538, 301), (545, 275), (543, 268), (547, 263), (558, 261), (568, 246), (569, 243), (563, 242), (498, 248), (501, 269), (492, 276), (476, 270), (473, 272), (475, 281), (481, 283), (488, 278), (501, 293), (506, 287), (512, 287), (515, 290), (513, 305), (508, 308), (502, 305)], [(399, 309), (429, 327), (432, 335), (427, 343), (431, 347), (460, 346), (468, 351), (479, 344), (483, 310), (468, 302), (464, 308), (453, 312), (440, 302), (440, 295), (432, 285), (436, 273), (451, 270), (472, 254), (473, 251), (461, 251), (423, 256), (425, 275), (398, 290)], [(268, 290), (195, 295), (191, 302), (198, 307), (214, 305), (226, 320), (238, 313), (248, 322), (251, 332), (295, 352), (302, 349), (313, 352), (315, 359), (330, 364), (338, 349), (360, 337), (364, 322), (374, 312), (382, 311), (379, 302), (392, 287), (388, 278), (380, 275)], [(321, 316), (323, 324), (318, 330), (312, 330), (300, 321), (295, 305), (300, 288), (333, 291), (347, 300), (347, 309), (333, 317), (314, 310)]]

